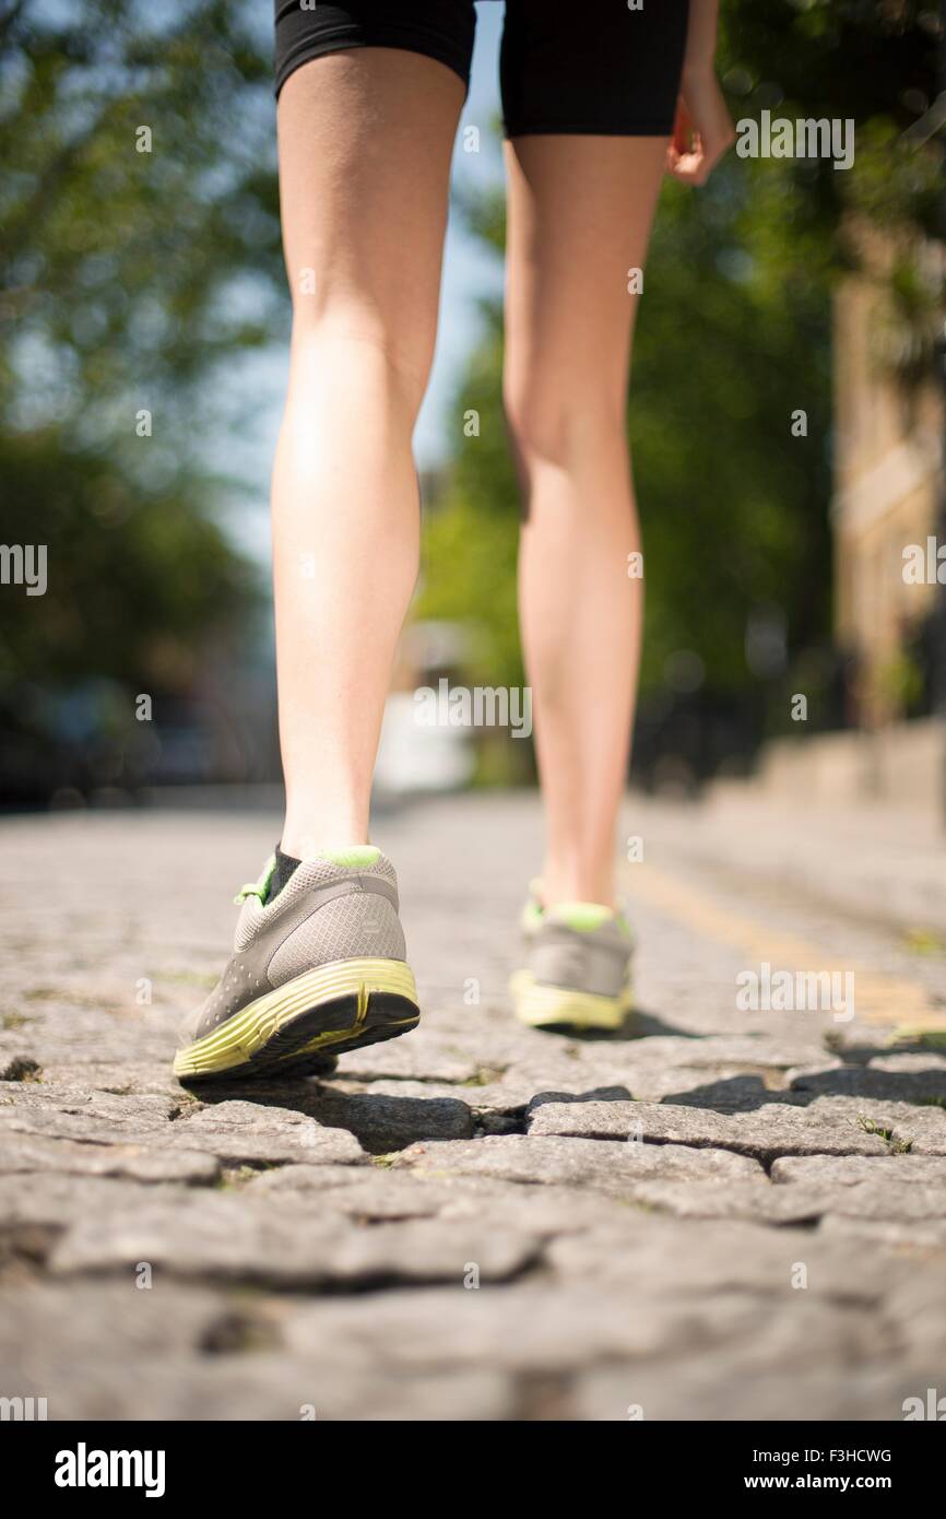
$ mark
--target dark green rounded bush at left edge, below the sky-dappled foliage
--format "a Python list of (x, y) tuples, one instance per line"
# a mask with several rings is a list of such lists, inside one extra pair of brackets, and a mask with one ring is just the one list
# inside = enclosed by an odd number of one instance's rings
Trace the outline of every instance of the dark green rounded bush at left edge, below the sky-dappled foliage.
[(46, 544), (49, 565), (46, 595), (0, 597), (0, 696), (90, 673), (185, 690), (199, 641), (254, 605), (249, 570), (187, 475), (147, 488), (53, 428), (11, 434), (0, 471), (5, 541)]

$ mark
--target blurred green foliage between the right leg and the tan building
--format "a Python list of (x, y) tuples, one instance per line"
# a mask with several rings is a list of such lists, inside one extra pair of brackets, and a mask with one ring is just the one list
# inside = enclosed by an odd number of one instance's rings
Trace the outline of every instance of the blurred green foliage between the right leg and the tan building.
[[(645, 691), (680, 647), (714, 690), (750, 685), (755, 609), (780, 614), (790, 647), (826, 630), (828, 302), (800, 270), (777, 289), (749, 252), (771, 216), (756, 178), (729, 163), (702, 196), (668, 185), (648, 258), (630, 396)], [(791, 237), (785, 210), (779, 225)]]

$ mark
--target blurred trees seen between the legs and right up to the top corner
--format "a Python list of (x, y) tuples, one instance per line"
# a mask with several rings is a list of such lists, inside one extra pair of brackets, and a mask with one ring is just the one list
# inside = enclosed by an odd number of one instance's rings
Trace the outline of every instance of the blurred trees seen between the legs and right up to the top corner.
[[(937, 292), (919, 290), (911, 238), (935, 226), (940, 155), (902, 135), (932, 105), (937, 18), (905, 0), (724, 0), (723, 14), (736, 117), (852, 115), (858, 147), (850, 172), (730, 153), (698, 191), (667, 184), (657, 214), (629, 406), (647, 567), (638, 749), (648, 760), (665, 729), (703, 772), (791, 728), (791, 691), (809, 693), (811, 728), (840, 718), (831, 289), (856, 257), (852, 216), (907, 232), (896, 278), (922, 313), (914, 360), (937, 310)], [(460, 205), (501, 252), (501, 194)], [(518, 684), (501, 358), (501, 313), (489, 307), (456, 401), (457, 418), (480, 413), (480, 436), (463, 436), (427, 521), (418, 611), (475, 626), (474, 679)]]

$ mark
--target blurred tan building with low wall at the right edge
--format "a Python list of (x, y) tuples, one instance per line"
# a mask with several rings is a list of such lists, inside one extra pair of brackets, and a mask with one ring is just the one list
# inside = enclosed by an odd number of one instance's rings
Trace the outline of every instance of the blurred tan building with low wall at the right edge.
[[(919, 264), (913, 322), (894, 307), (897, 252), (876, 237), (834, 310), (834, 632), (844, 728), (777, 740), (758, 785), (797, 802), (872, 802), (946, 820), (946, 722), (932, 712), (934, 609), (946, 597), (943, 392), (929, 363), (943, 254)], [(941, 321), (941, 313), (940, 317)], [(941, 605), (941, 603), (940, 603)]]

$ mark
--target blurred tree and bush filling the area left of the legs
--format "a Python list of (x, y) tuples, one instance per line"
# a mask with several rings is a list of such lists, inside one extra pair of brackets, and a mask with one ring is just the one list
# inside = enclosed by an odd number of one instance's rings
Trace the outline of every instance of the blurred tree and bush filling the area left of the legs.
[(214, 523), (228, 365), (284, 289), (270, 17), (251, 0), (0, 6), (5, 541), (49, 591), (0, 595), (0, 703), (108, 676), (187, 693), (255, 577)]

